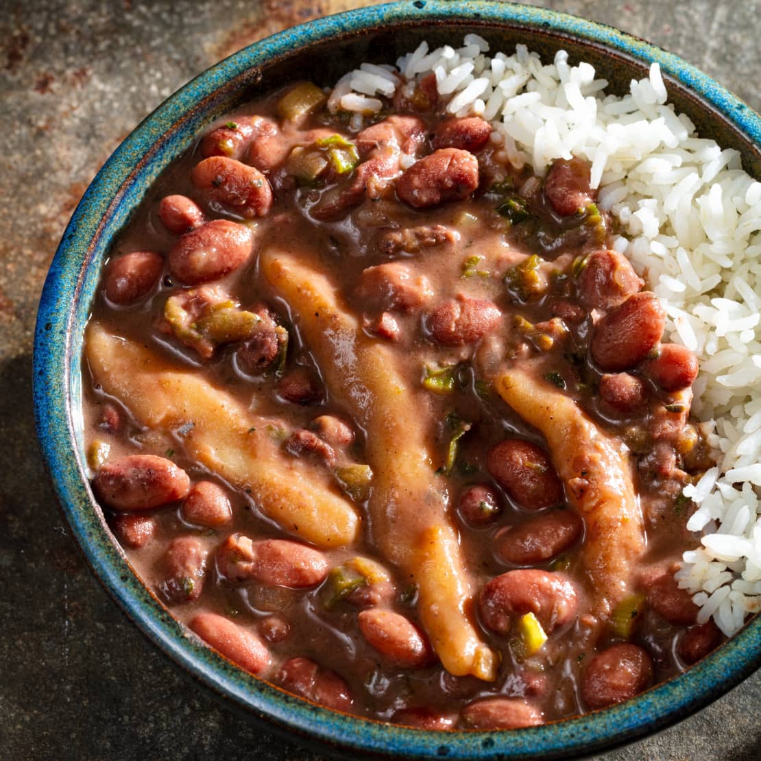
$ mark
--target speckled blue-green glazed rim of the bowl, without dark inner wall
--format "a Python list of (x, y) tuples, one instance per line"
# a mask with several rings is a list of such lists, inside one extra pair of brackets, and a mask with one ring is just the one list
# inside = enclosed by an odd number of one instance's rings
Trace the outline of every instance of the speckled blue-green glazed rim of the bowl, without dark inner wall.
[[(152, 180), (145, 177), (150, 175), (151, 158), (160, 149), (171, 153), (170, 141), (182, 138), (183, 127), (191, 132), (193, 119), (208, 113), (215, 94), (242, 81), (252, 68), (336, 35), (355, 37), (371, 34), (378, 27), (412, 28), (431, 22), (527, 27), (531, 32), (592, 44), (604, 53), (626, 56), (641, 65), (657, 61), (664, 78), (670, 77), (692, 91), (708, 110), (718, 112), (756, 148), (761, 145), (761, 117), (697, 68), (613, 27), (568, 14), (482, 0), (417, 0), (357, 8), (291, 27), (234, 53), (165, 100), (119, 145), (84, 193), (63, 234), (40, 298), (33, 352), (37, 435), (65, 520), (111, 597), (173, 661), (253, 717), (266, 717), (269, 727), (291, 737), (319, 740), (337, 752), (408, 759), (485, 759), (495, 754), (505, 759), (530, 758), (536, 756), (537, 747), (548, 759), (591, 753), (686, 718), (750, 675), (761, 665), (761, 617), (752, 619), (718, 651), (677, 677), (631, 701), (578, 718), (521, 731), (439, 733), (351, 717), (290, 696), (250, 676), (205, 647), (174, 619), (139, 581), (110, 537), (102, 514), (94, 509), (76, 443), (81, 419), (72, 379), (78, 374), (80, 361), (77, 347), (81, 346), (81, 335), (75, 330), (84, 326), (85, 315), (78, 305), (85, 275), (95, 266), (97, 254), (106, 252), (113, 242), (116, 229), (109, 228), (120, 226), (114, 218), (134, 208), (129, 192), (139, 199), (151, 185)], [(185, 139), (189, 139), (187, 134)], [(125, 212), (130, 203), (132, 207)]]

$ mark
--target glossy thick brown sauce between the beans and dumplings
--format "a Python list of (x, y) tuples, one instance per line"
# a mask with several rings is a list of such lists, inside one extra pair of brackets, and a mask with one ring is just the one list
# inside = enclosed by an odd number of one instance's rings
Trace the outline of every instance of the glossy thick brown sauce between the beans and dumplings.
[[(221, 123), (240, 119), (241, 116), (260, 114), (277, 119), (274, 103), (278, 96), (272, 96), (231, 116)], [(434, 113), (422, 116), (432, 129), (438, 116)], [(336, 119), (331, 123), (328, 116), (320, 115), (312, 123), (302, 124), (299, 129), (283, 129), (282, 139), (293, 145), (303, 144), (307, 129), (324, 127), (328, 123), (331, 132), (339, 132), (348, 139), (350, 134)], [(429, 147), (423, 149), (430, 151)], [(520, 365), (527, 360), (541, 358), (543, 374), (560, 374), (568, 384), (567, 391), (578, 399), (578, 404), (604, 430), (622, 438), (630, 444), (639, 460), (648, 457), (648, 430), (652, 425), (654, 409), (670, 401), (667, 394), (650, 386), (649, 406), (637, 416), (628, 417), (612, 412), (610, 407), (600, 403), (596, 393), (600, 371), (588, 359), (587, 344), (592, 330), (593, 317), (584, 307), (583, 319), (568, 327), (568, 336), (556, 342), (549, 350), (538, 349), (535, 338), (521, 332), (515, 324), (519, 315), (530, 323), (537, 324), (552, 320), (554, 306), (559, 300), (578, 305), (575, 286), (574, 263), (579, 257), (603, 247), (603, 243), (577, 218), (570, 220), (553, 214), (546, 204), (537, 183), (537, 190), (530, 198), (529, 207), (535, 219), (517, 222), (512, 227), (505, 218), (495, 212), (495, 207), (504, 198), (488, 191), (495, 179), (512, 177), (520, 187), (528, 175), (516, 176), (498, 161), (493, 145), (479, 152), (481, 164), (481, 189), (473, 197), (459, 202), (449, 202), (431, 209), (416, 211), (397, 201), (390, 193), (378, 200), (365, 200), (354, 209), (347, 209), (336, 221), (316, 221), (310, 216), (310, 207), (320, 199), (323, 188), (298, 186), (288, 176), (287, 170), (266, 173), (274, 190), (274, 205), (263, 218), (256, 219), (254, 256), (244, 267), (215, 282), (232, 298), (240, 301), (243, 308), (264, 302), (276, 312), (289, 334), (288, 368), (304, 365), (317, 374), (323, 368), (317, 365), (310, 346), (301, 337), (298, 315), (291, 314), (288, 304), (272, 294), (272, 290), (258, 266), (256, 253), (264, 245), (282, 248), (301, 257), (310, 266), (331, 273), (340, 291), (359, 320), (373, 320), (379, 310), (367, 308), (365, 298), (358, 293), (363, 270), (369, 266), (389, 261), (402, 261), (416, 273), (425, 274), (434, 292), (429, 304), (410, 314), (394, 314), (400, 326), (400, 339), (389, 342), (377, 337), (368, 328), (368, 335), (381, 344), (393, 349), (396, 369), (406, 384), (416, 390), (415, 405), (410, 409), (409, 425), (428, 426), (425, 428), (431, 451), (438, 453), (439, 461), (431, 463), (438, 468), (444, 463), (448, 438), (451, 430), (447, 425), (447, 415), (457, 412), (460, 419), (471, 423), (470, 431), (460, 441), (457, 463), (450, 476), (439, 475), (441, 489), (447, 495), (448, 520), (457, 527), (460, 544), (465, 559), (467, 575), (471, 587), (477, 592), (495, 576), (514, 566), (498, 559), (493, 552), (495, 533), (504, 527), (517, 527), (535, 513), (526, 511), (511, 500), (504, 489), (495, 482), (486, 466), (486, 453), (506, 436), (522, 438), (545, 447), (543, 438), (536, 430), (527, 426), (513, 412), (491, 383), (495, 369), (507, 361)], [(142, 203), (113, 248), (112, 258), (138, 250), (148, 250), (165, 255), (172, 247), (177, 235), (164, 228), (158, 218), (158, 204), (169, 194), (180, 193), (196, 199), (208, 218), (228, 218), (237, 220), (236, 215), (219, 205), (204, 205), (202, 194), (189, 179), (190, 170), (201, 158), (199, 148), (190, 151), (170, 167)], [(491, 179), (490, 179), (491, 178)], [(329, 184), (330, 189), (330, 184)], [(610, 234), (610, 220), (607, 221)], [(454, 235), (451, 240), (430, 247), (422, 247), (416, 253), (404, 251), (389, 256), (379, 250), (380, 236), (390, 230), (405, 230), (419, 226), (441, 225)], [(548, 288), (535, 298), (521, 294), (521, 284), (505, 285), (504, 278), (511, 267), (526, 260), (531, 254), (539, 254), (545, 260), (542, 271), (546, 273)], [(470, 269), (478, 272), (463, 276), (473, 256), (481, 257), (477, 265)], [(161, 283), (149, 298), (128, 307), (116, 307), (107, 303), (100, 295), (94, 304), (93, 318), (107, 331), (118, 336), (134, 339), (151, 351), (158, 353), (180, 370), (201, 373), (213, 384), (224, 387), (245, 406), (251, 406), (256, 414), (271, 418), (285, 431), (309, 428), (310, 421), (320, 415), (336, 414), (351, 420), (352, 416), (342, 400), (330, 396), (328, 384), (321, 384), (322, 399), (319, 403), (298, 406), (282, 400), (277, 394), (277, 378), (272, 372), (258, 376), (240, 372), (236, 360), (237, 346), (232, 343), (218, 348), (209, 360), (183, 346), (173, 336), (156, 330), (164, 303), (168, 296), (180, 289), (169, 275), (165, 274)], [(431, 305), (457, 295), (489, 299), (501, 310), (502, 317), (496, 330), (475, 344), (466, 343), (452, 348), (438, 345), (422, 329), (422, 315)], [(527, 337), (528, 336), (528, 337)], [(455, 365), (454, 391), (439, 395), (421, 387), (425, 365)], [(83, 369), (89, 378), (88, 368)], [(577, 388), (570, 387), (576, 384)], [(497, 635), (480, 623), (479, 636), (495, 651), (501, 654), (501, 665), (494, 683), (487, 683), (474, 677), (454, 677), (440, 664), (427, 665), (416, 669), (398, 669), (385, 665), (365, 639), (358, 632), (357, 609), (348, 602), (342, 602), (330, 610), (326, 609), (326, 586), (307, 591), (294, 591), (282, 587), (267, 587), (263, 584), (243, 584), (232, 586), (218, 582), (214, 566), (215, 549), (236, 532), (254, 539), (285, 537), (287, 533), (273, 521), (263, 517), (253, 500), (240, 490), (231, 489), (214, 473), (199, 463), (189, 460), (183, 452), (181, 438), (171, 431), (148, 430), (138, 425), (129, 409), (119, 400), (108, 398), (98, 387), (85, 382), (84, 417), (88, 440), (107, 441), (110, 444), (109, 460), (116, 460), (129, 454), (158, 454), (169, 457), (189, 474), (192, 481), (212, 480), (227, 490), (233, 505), (233, 520), (216, 530), (193, 526), (183, 521), (180, 507), (175, 503), (167, 508), (151, 511), (156, 521), (156, 531), (152, 540), (140, 549), (128, 549), (129, 560), (145, 584), (152, 589), (161, 587), (165, 580), (164, 552), (167, 543), (175, 537), (192, 536), (209, 550), (209, 570), (203, 584), (203, 591), (197, 600), (168, 603), (170, 610), (183, 622), (189, 622), (202, 611), (212, 611), (228, 616), (238, 625), (257, 631), (257, 626), (272, 616), (282, 616), (290, 624), (290, 635), (283, 642), (270, 644), (273, 664), (266, 677), (276, 681), (279, 664), (288, 658), (304, 656), (317, 661), (320, 666), (335, 670), (349, 685), (354, 698), (352, 712), (381, 720), (393, 719), (400, 708), (428, 707), (435, 712), (455, 718), (460, 710), (479, 696), (517, 696), (526, 698), (531, 705), (543, 713), (543, 720), (549, 721), (584, 712), (579, 693), (579, 685), (585, 665), (617, 638), (606, 626), (585, 622), (584, 615), (570, 627), (550, 635), (544, 647), (533, 657), (518, 660), (510, 645), (509, 636)], [(672, 400), (673, 401), (673, 400)], [(105, 403), (119, 408), (123, 424), (119, 430), (109, 433), (103, 430), (102, 416)], [(684, 416), (686, 419), (686, 415)], [(684, 423), (684, 420), (682, 421)], [(430, 424), (430, 425), (429, 425)], [(373, 431), (362, 430), (354, 422), (357, 439), (347, 457), (355, 462), (365, 462), (365, 451)], [(639, 441), (639, 450), (632, 441)], [(644, 442), (644, 443), (643, 443)], [(304, 455), (302, 455), (303, 457)], [(282, 452), (282, 457), (291, 455)], [(699, 458), (697, 458), (699, 460)], [(701, 463), (695, 461), (679, 463), (687, 470), (697, 471)], [(336, 489), (325, 471), (326, 484)], [(645, 517), (646, 550), (640, 563), (642, 568), (656, 563), (678, 561), (684, 549), (692, 540), (684, 529), (687, 510), (680, 505), (676, 495), (683, 486), (683, 470), (676, 470), (668, 476), (651, 478), (647, 466), (638, 470), (635, 483), (638, 486), (640, 507)], [(457, 514), (457, 499), (466, 486), (486, 484), (496, 489), (501, 511), (492, 521), (482, 527), (474, 527)], [(367, 521), (367, 505), (360, 502), (360, 513)], [(108, 509), (109, 519), (113, 517)], [(425, 510), (420, 511), (419, 520), (426, 520)], [(377, 552), (380, 544), (372, 536), (371, 529), (361, 533), (356, 544), (345, 549), (326, 552), (330, 565), (339, 565), (358, 554), (375, 557), (387, 565), (382, 554)], [(412, 527), (409, 527), (411, 530)], [(572, 549), (562, 554), (565, 573), (578, 581), (581, 591), (580, 613), (587, 606), (589, 579), (584, 577), (584, 569), (578, 562), (578, 549), (582, 539)], [(533, 565), (537, 568), (557, 568), (557, 559)], [(387, 565), (388, 567), (388, 565)], [(388, 567), (394, 576), (396, 594), (390, 607), (408, 619), (418, 622), (414, 589), (409, 589), (406, 578)], [(329, 580), (330, 581), (330, 580)], [(633, 584), (634, 582), (632, 582)], [(632, 593), (635, 591), (632, 587)], [(588, 616), (587, 616), (588, 618)], [(654, 682), (670, 677), (685, 664), (676, 654), (678, 639), (683, 626), (674, 626), (656, 611), (648, 608), (638, 621), (631, 636), (631, 642), (643, 645), (654, 661)]]

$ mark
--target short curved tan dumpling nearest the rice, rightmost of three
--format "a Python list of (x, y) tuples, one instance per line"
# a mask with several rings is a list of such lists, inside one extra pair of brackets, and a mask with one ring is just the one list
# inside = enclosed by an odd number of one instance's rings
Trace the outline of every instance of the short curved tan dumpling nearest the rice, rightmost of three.
[(607, 616), (626, 595), (632, 565), (645, 549), (626, 447), (532, 368), (503, 371), (496, 386), (502, 399), (547, 440), (568, 501), (586, 524), (581, 558), (593, 582), (594, 612)]

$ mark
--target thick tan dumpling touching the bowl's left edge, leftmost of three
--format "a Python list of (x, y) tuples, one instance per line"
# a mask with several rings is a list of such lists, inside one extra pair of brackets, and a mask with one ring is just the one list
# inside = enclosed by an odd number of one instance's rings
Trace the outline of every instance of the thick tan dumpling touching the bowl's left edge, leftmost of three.
[(187, 454), (250, 493), (283, 530), (320, 547), (355, 541), (353, 505), (321, 482), (317, 470), (282, 457), (266, 421), (192, 371), (170, 369), (158, 355), (88, 326), (85, 354), (97, 384), (150, 428), (182, 428)]

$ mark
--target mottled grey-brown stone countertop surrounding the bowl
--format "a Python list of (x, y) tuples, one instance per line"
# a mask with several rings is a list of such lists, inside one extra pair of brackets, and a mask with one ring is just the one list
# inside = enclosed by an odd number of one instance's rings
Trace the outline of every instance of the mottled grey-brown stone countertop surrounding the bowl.
[[(0, 757), (320, 756), (240, 718), (140, 635), (84, 565), (37, 449), (31, 347), (65, 223), (98, 167), (196, 73), (360, 2), (4, 0), (0, 8)], [(368, 5), (367, 2), (362, 3)], [(761, 107), (758, 0), (537, 2), (658, 43)], [(761, 672), (607, 759), (758, 757)]]

